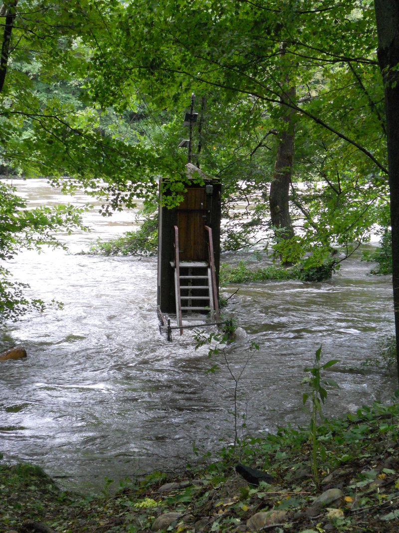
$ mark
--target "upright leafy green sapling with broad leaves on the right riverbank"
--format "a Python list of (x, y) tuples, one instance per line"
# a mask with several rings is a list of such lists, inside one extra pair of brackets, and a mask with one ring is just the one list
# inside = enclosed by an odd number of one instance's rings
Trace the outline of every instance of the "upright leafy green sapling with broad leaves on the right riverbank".
[(317, 487), (319, 487), (319, 469), (318, 469), (318, 449), (320, 443), (317, 438), (317, 416), (321, 416), (321, 403), (323, 403), (327, 398), (327, 387), (332, 387), (334, 389), (339, 389), (339, 385), (334, 379), (322, 379), (320, 375), (321, 370), (326, 370), (332, 365), (335, 365), (338, 362), (338, 359), (331, 359), (327, 361), (324, 365), (320, 366), (321, 358), (321, 345), (320, 348), (316, 351), (314, 364), (311, 368), (306, 367), (305, 372), (309, 372), (310, 376), (306, 376), (302, 379), (301, 385), (308, 384), (310, 386), (310, 392), (304, 392), (302, 395), (303, 405), (308, 398), (312, 401), (311, 410), (305, 409), (307, 413), (310, 414), (310, 435), (312, 442), (312, 474), (313, 480)]

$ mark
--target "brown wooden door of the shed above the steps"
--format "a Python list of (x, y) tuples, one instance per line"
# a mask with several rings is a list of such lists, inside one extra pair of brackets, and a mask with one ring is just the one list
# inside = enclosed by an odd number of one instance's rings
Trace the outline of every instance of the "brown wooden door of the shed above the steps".
[(206, 195), (204, 188), (188, 189), (177, 208), (180, 261), (206, 261)]

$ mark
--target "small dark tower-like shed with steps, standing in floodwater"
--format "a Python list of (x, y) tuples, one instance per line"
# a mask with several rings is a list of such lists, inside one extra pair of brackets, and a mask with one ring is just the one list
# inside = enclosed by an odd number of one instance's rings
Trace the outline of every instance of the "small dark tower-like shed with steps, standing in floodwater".
[[(160, 183), (157, 306), (183, 321), (194, 314), (219, 320), (221, 185), (192, 163), (184, 200), (164, 206), (168, 182)], [(198, 184), (200, 179), (201, 184)]]

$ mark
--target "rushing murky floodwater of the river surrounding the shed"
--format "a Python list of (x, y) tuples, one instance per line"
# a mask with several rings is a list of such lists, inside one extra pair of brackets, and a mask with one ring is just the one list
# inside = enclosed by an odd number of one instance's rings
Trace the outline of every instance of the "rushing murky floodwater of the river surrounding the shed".
[[(31, 206), (65, 201), (44, 180), (15, 184)], [(134, 213), (104, 219), (92, 211), (85, 219), (91, 233), (62, 237), (72, 252), (131, 230)], [(217, 360), (205, 347), (195, 350), (192, 333), (174, 335), (172, 343), (161, 336), (155, 258), (47, 250), (24, 252), (9, 268), (15, 280), (29, 282), (30, 296), (64, 307), (29, 314), (0, 332), (0, 351), (16, 343), (28, 351), (26, 360), (0, 367), (6, 459), (38, 463), (65, 486), (99, 488), (105, 477), (181, 466), (194, 446), (202, 454), (231, 442), (234, 382), (221, 359), (219, 372), (206, 373)], [(325, 361), (340, 360), (329, 372), (340, 390), (328, 394), (326, 415), (389, 400), (395, 376), (361, 366), (394, 331), (390, 279), (369, 271), (351, 259), (330, 281), (253, 283), (229, 300), (225, 317), (246, 332), (226, 351), (236, 375), (248, 361), (238, 386), (246, 432), (306, 423), (300, 383), (320, 344)], [(252, 342), (259, 351), (250, 351)]]

